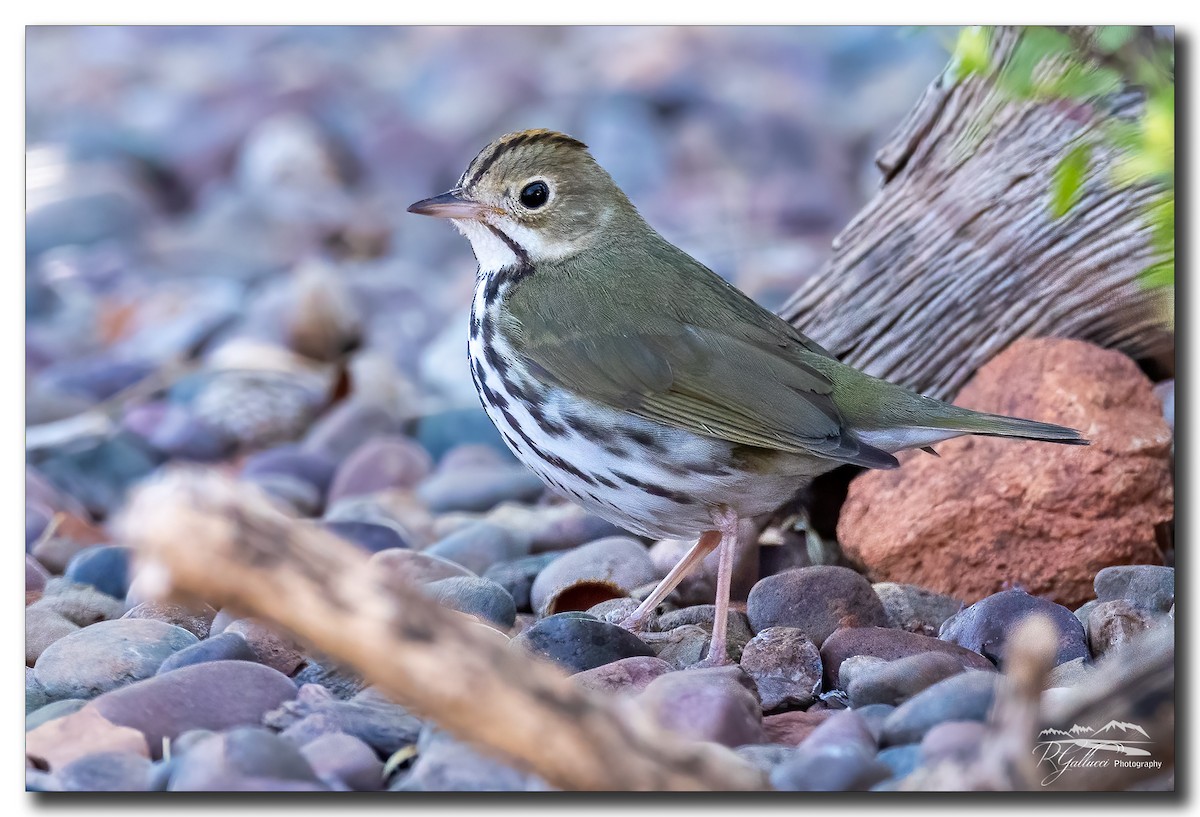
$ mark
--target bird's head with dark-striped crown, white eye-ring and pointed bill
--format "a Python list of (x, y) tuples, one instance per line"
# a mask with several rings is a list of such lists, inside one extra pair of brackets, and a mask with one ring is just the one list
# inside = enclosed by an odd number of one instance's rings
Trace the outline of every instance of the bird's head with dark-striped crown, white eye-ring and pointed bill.
[(450, 218), (482, 270), (565, 258), (641, 223), (582, 142), (540, 130), (500, 137), (479, 151), (454, 190), (408, 211)]

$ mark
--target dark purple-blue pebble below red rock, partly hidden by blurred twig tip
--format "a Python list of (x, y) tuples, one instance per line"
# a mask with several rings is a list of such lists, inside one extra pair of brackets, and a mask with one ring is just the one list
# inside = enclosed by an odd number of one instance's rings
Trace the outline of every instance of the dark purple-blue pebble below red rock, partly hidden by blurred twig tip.
[(1003, 590), (980, 599), (942, 625), (941, 638), (984, 655), (1002, 666), (1004, 643), (1033, 613), (1046, 615), (1058, 630), (1055, 663), (1088, 657), (1087, 635), (1075, 615), (1055, 602), (1025, 590)]

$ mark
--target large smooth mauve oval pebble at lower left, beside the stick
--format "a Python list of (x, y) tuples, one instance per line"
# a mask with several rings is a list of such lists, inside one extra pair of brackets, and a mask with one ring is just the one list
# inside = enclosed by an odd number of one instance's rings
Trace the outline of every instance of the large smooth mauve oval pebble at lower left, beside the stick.
[[(174, 739), (188, 729), (258, 725), (264, 714), (295, 695), (292, 680), (270, 667), (206, 661), (106, 692), (89, 709), (113, 723), (138, 729), (150, 745), (150, 756), (157, 759), (163, 738)], [(187, 705), (181, 707), (181, 701)]]

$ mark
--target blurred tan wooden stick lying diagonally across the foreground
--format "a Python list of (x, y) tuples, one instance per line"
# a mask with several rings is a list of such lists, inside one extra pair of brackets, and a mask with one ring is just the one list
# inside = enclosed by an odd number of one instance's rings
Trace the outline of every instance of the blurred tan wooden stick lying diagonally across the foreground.
[(136, 493), (121, 529), (163, 589), (275, 623), (414, 713), (559, 788), (767, 787), (730, 750), (684, 740), (630, 702), (580, 689), (246, 485), (167, 473)]

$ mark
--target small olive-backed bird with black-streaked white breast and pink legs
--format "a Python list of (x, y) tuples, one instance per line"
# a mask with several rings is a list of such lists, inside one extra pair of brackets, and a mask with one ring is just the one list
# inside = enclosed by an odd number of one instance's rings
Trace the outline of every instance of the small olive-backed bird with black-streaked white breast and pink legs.
[(512, 452), (628, 530), (700, 536), (624, 626), (644, 626), (720, 548), (708, 665), (728, 660), (739, 519), (839, 465), (896, 468), (896, 451), (961, 434), (1086, 443), (838, 361), (667, 242), (566, 134), (503, 136), (408, 211), (449, 218), (470, 241), (470, 371)]

